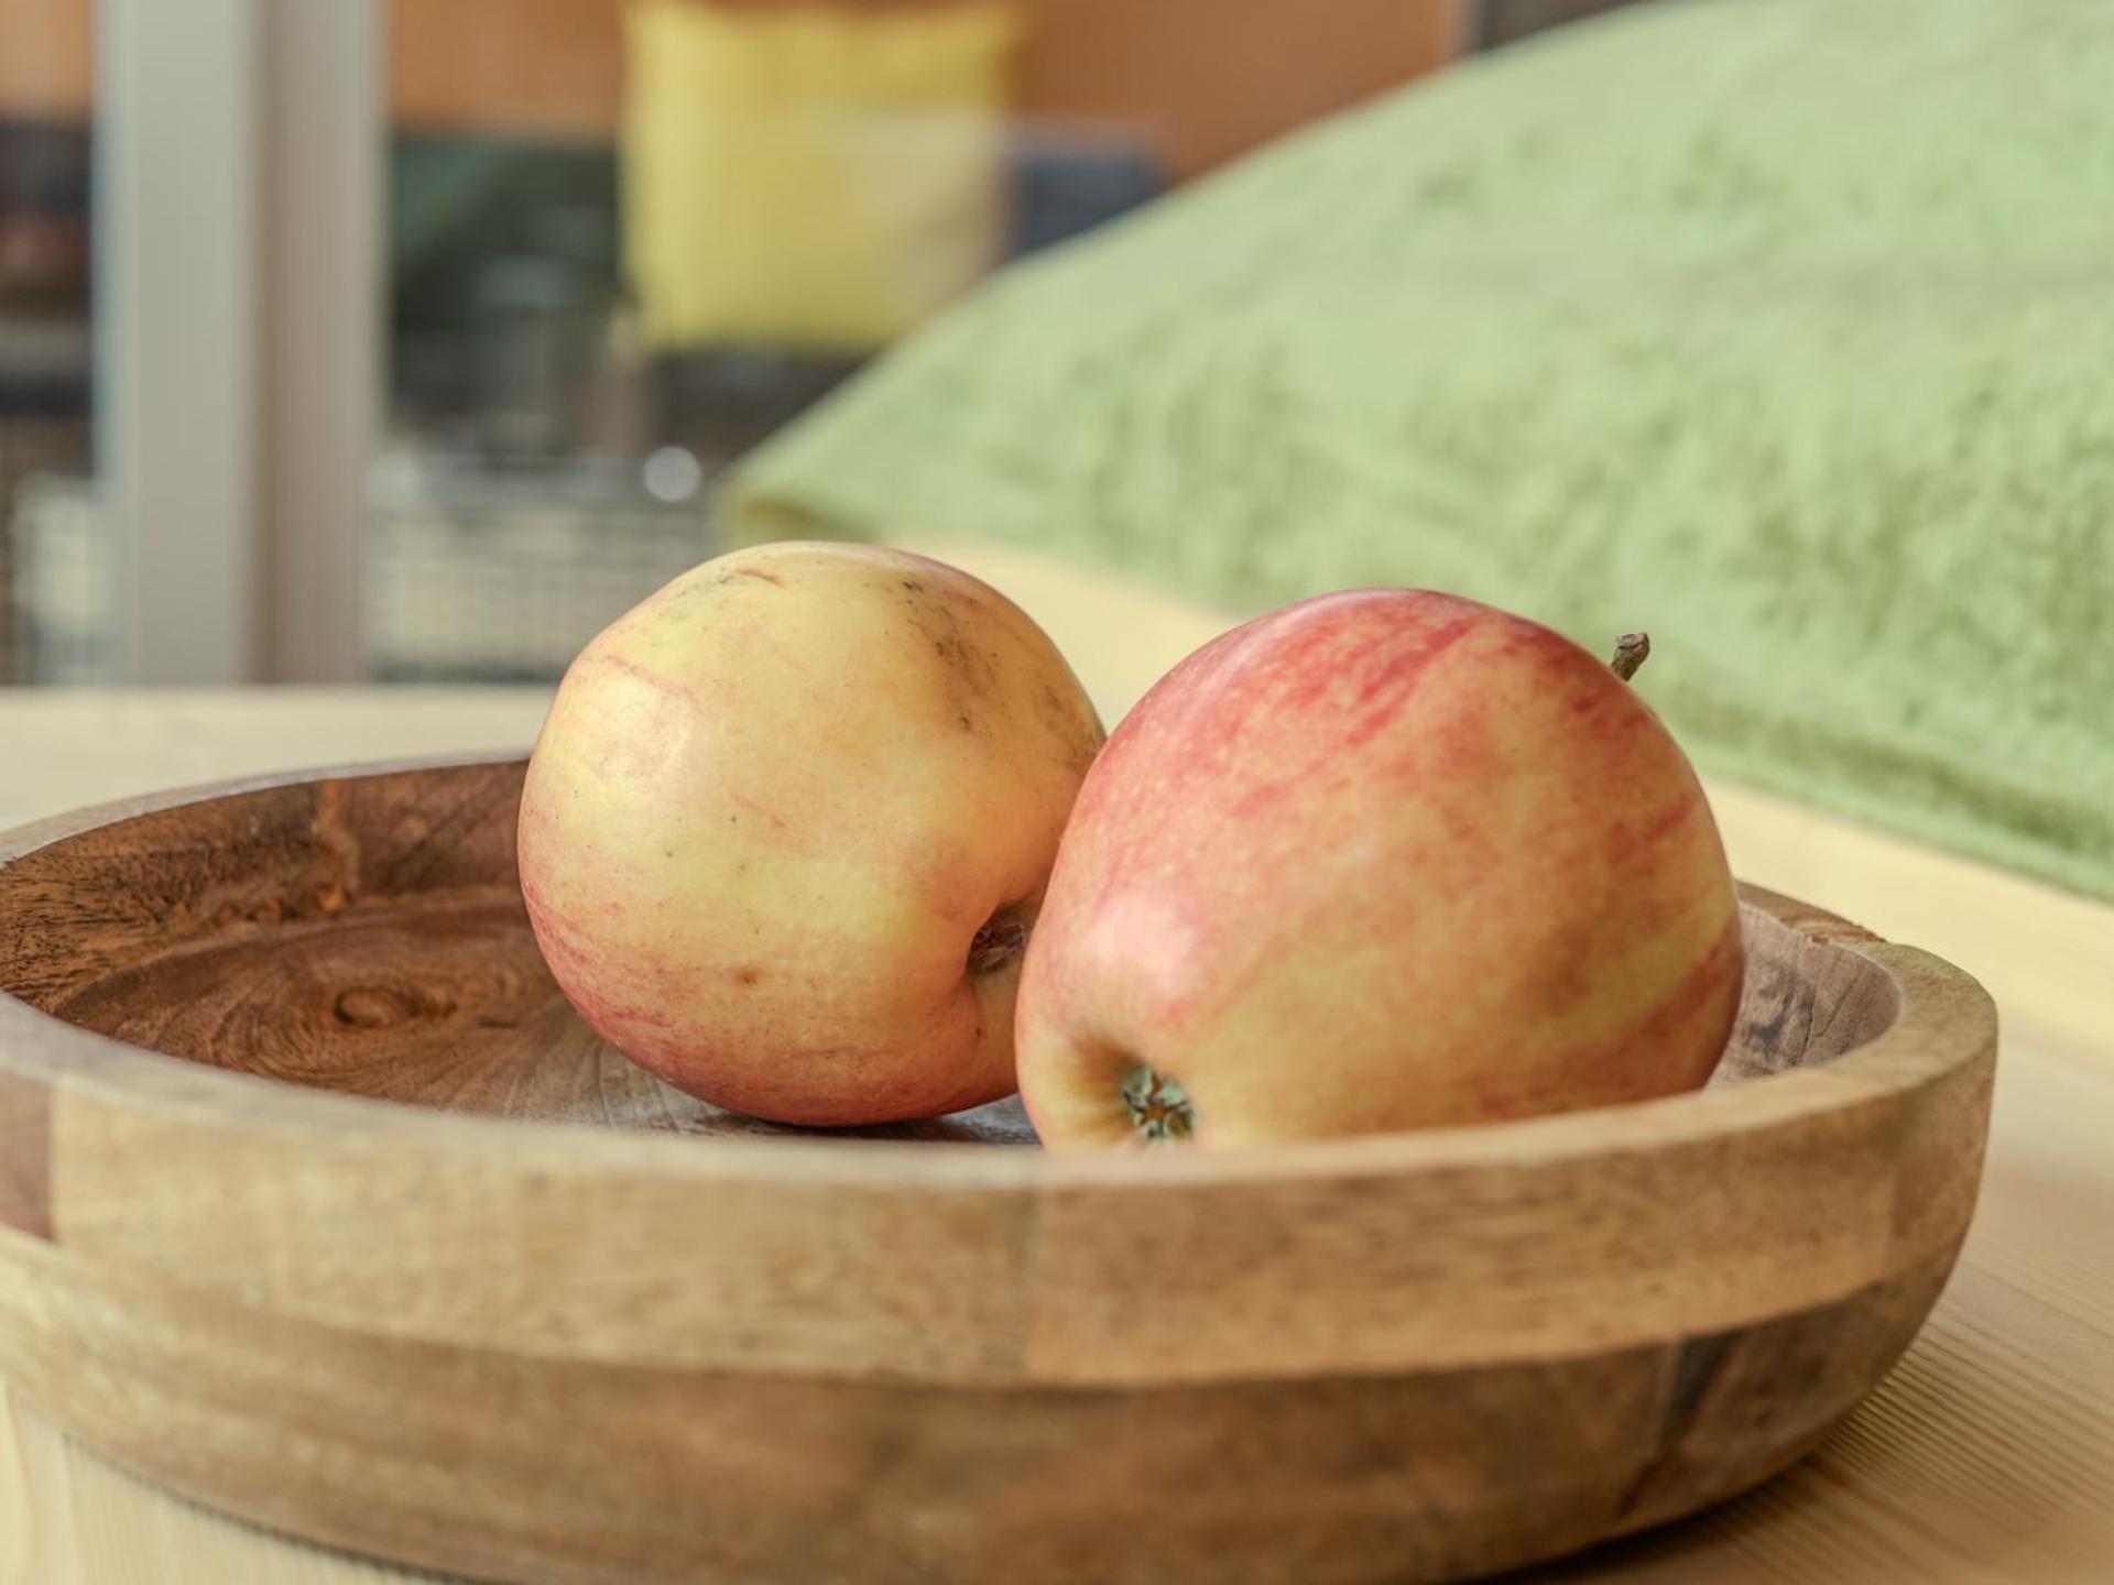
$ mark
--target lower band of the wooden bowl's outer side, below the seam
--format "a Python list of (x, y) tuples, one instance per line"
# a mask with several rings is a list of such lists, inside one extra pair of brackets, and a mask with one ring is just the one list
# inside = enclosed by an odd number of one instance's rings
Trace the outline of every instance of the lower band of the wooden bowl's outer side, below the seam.
[[(1144, 1397), (378, 1357), (355, 1334), (13, 1249), (0, 1327), (55, 1350), (11, 1369), (97, 1378), (68, 1418), (125, 1462), (207, 1496), (258, 1492), (252, 1517), (311, 1534), (313, 1479), (340, 1498), (330, 1541), (469, 1574), (1330, 1585), (1503, 1566), (1748, 1484), (1755, 1458), (1803, 1452), (1892, 1363), (1945, 1264), (1714, 1340), (1695, 1382), (1657, 1348)], [(25, 1325), (30, 1293), (47, 1321)], [(142, 1418), (152, 1443), (129, 1431)], [(486, 1452), (495, 1422), (509, 1456)], [(444, 1452), (459, 1448), (480, 1456)]]

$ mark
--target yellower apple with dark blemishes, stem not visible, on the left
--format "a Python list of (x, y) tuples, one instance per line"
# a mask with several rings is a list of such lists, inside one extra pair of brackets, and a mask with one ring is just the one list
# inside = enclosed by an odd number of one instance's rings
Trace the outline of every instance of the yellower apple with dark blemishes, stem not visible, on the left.
[(520, 805), (543, 959), (617, 1050), (801, 1124), (1010, 1095), (1021, 949), (1095, 716), (941, 562), (778, 543), (685, 573), (573, 661)]

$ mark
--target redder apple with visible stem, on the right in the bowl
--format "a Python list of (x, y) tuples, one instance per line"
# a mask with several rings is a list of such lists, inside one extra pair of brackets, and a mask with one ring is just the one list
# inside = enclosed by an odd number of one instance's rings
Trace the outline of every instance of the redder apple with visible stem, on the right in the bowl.
[(1108, 740), (1027, 949), (1021, 1099), (1053, 1150), (1638, 1101), (1710, 1076), (1740, 972), (1710, 807), (1615, 670), (1351, 590), (1205, 645)]

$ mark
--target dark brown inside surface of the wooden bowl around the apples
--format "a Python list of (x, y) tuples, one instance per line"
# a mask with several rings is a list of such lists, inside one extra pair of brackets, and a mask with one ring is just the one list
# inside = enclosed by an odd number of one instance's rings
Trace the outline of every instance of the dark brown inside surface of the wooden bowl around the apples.
[[(0, 991), (197, 1063), (349, 1095), (687, 1135), (801, 1133), (662, 1084), (558, 991), (514, 875), (520, 763), (249, 788), (0, 856)], [(1712, 1086), (1892, 1021), (1886, 974), (1742, 905), (1746, 989)], [(1017, 1101), (852, 1131), (1034, 1145)]]

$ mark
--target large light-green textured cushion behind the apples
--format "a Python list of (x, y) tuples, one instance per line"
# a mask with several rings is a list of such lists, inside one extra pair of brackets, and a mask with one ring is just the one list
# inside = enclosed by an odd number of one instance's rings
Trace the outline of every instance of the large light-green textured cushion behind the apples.
[(1702, 765), (2114, 896), (2114, 6), (1465, 63), (1004, 273), (729, 522), (1649, 628)]

